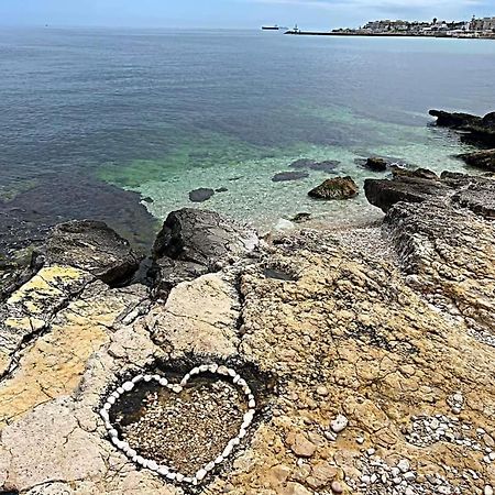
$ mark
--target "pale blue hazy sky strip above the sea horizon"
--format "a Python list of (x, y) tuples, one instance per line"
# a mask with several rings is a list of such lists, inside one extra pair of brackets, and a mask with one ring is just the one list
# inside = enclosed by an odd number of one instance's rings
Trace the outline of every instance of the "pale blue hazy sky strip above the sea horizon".
[(495, 0), (0, 0), (1, 25), (330, 29), (495, 15)]

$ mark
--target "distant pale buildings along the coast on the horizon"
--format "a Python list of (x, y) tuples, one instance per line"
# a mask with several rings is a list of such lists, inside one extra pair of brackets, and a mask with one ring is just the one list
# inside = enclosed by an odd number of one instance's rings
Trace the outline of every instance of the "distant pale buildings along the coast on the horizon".
[(405, 35), (440, 37), (493, 37), (495, 38), (495, 16), (471, 21), (446, 22), (433, 19), (432, 22), (419, 21), (372, 21), (358, 30), (341, 29), (332, 33), (361, 35)]

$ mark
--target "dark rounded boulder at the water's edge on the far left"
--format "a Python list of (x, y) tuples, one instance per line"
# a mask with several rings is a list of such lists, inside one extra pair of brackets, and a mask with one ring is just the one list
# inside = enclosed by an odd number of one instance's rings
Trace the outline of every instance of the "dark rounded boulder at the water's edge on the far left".
[(74, 266), (108, 285), (128, 280), (139, 268), (129, 242), (105, 222), (75, 220), (56, 226), (46, 243), (46, 263)]

